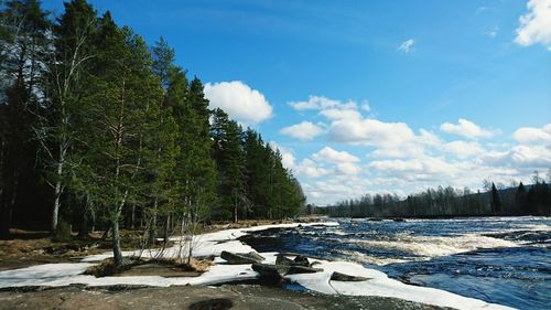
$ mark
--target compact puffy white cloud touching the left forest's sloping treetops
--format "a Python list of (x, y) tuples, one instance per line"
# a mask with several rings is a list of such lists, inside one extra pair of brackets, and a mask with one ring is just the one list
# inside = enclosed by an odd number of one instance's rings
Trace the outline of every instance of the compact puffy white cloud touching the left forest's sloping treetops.
[(207, 83), (205, 97), (210, 108), (222, 108), (241, 122), (256, 124), (272, 116), (272, 107), (264, 96), (240, 81)]

